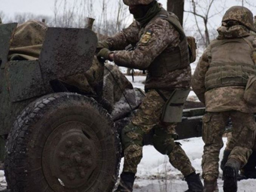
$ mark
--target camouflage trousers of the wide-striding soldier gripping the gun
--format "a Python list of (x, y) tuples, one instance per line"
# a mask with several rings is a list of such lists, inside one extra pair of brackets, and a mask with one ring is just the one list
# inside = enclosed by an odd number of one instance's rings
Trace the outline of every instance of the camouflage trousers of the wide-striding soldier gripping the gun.
[[(172, 92), (161, 93), (168, 98)], [(122, 143), (124, 145), (123, 172), (137, 173), (137, 166), (142, 158), (143, 135), (154, 129), (153, 143), (157, 151), (168, 155), (169, 162), (181, 171), (184, 176), (195, 172), (185, 152), (178, 143), (174, 142), (177, 136), (175, 128), (177, 123), (163, 123), (160, 121), (165, 101), (155, 91), (150, 90), (137, 110), (132, 122), (122, 130)], [(126, 142), (129, 140), (129, 142)]]

